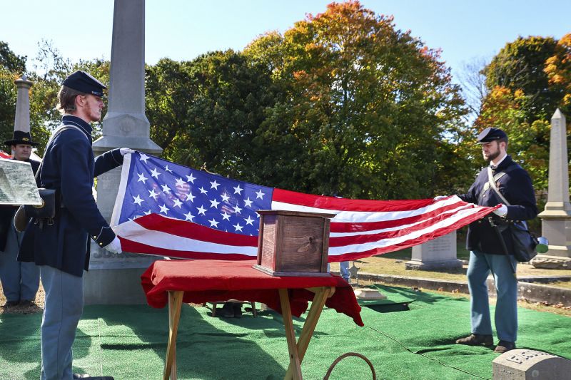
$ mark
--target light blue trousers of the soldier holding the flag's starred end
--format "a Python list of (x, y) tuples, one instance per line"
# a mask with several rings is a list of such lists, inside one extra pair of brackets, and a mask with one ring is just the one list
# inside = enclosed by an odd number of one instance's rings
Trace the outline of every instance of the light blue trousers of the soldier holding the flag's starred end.
[(42, 265), (41, 283), (46, 291), (41, 320), (41, 380), (71, 380), (71, 346), (84, 311), (84, 279)]

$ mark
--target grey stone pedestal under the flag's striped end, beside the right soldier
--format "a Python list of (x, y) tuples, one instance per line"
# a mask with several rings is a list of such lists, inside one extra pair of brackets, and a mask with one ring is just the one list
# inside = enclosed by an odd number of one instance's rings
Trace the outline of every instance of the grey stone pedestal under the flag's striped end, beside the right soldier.
[(438, 237), (413, 247), (411, 260), (405, 269), (450, 270), (461, 269), (462, 261), (456, 258), (456, 232)]

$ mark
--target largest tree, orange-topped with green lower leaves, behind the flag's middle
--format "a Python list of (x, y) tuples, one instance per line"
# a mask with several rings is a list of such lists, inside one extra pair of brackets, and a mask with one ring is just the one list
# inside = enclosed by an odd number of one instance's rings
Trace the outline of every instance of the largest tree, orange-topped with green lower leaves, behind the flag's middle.
[(439, 52), (358, 1), (329, 4), (244, 52), (281, 98), (257, 131), (268, 185), (395, 199), (453, 192), (471, 168), (453, 141), (465, 113)]

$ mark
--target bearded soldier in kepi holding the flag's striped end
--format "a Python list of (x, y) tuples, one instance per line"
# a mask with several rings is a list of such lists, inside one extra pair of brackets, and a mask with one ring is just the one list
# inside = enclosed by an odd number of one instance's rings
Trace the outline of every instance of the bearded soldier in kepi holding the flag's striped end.
[[(530, 220), (537, 215), (535, 192), (527, 172), (507, 155), (507, 135), (498, 128), (486, 128), (477, 137), (482, 145), (482, 155), (490, 163), (496, 187), (510, 205), (494, 211), (492, 222), (502, 225), (517, 220)], [(488, 183), (487, 168), (477, 176), (468, 192), (459, 197), (465, 202), (482, 206), (502, 203)], [(497, 292), (495, 329), (499, 343), (495, 352), (515, 349), (517, 340), (517, 279), (512, 255), (513, 242), (509, 230), (502, 233), (507, 247), (506, 255), (497, 231), (488, 218), (473, 222), (468, 227), (467, 248), (470, 250), (468, 287), (470, 289), (470, 312), (472, 334), (458, 339), (458, 344), (492, 346), (492, 324), (487, 297), (486, 279), (494, 276)]]

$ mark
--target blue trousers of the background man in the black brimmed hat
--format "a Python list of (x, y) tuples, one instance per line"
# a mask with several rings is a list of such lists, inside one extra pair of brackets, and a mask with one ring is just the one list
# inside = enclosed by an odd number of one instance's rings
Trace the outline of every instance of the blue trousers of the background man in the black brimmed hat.
[(34, 262), (19, 262), (18, 250), (24, 232), (10, 224), (6, 248), (0, 252), (0, 282), (6, 301), (34, 301), (40, 284), (40, 271)]

